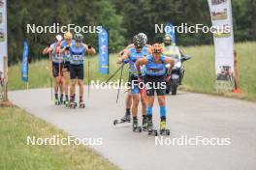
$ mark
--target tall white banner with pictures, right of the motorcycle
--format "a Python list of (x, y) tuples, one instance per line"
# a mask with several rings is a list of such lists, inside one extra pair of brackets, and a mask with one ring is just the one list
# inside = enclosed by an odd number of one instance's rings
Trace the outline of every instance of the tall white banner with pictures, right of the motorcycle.
[[(231, 0), (208, 0), (215, 48), (215, 71), (218, 81), (229, 82), (233, 88), (234, 35)], [(218, 85), (218, 84), (217, 84)]]

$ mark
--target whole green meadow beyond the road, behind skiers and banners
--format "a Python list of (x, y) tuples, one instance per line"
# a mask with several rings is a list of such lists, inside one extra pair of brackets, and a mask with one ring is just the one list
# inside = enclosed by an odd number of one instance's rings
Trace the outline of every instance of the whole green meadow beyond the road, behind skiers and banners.
[[(231, 93), (218, 94), (214, 92), (214, 48), (212, 45), (181, 47), (183, 53), (191, 55), (193, 58), (185, 62), (186, 73), (183, 81), (183, 90), (199, 93), (216, 94), (237, 97), (240, 99), (256, 100), (256, 42), (237, 43), (236, 49), (239, 57), (240, 89), (241, 95)], [(117, 69), (115, 64), (116, 54), (110, 56), (110, 74)], [(87, 59), (85, 75), (87, 76)], [(90, 58), (90, 76), (93, 80), (104, 81), (108, 77), (98, 72), (98, 57)], [(127, 70), (127, 67), (125, 68)], [(49, 87), (48, 61), (35, 62), (29, 66), (29, 87), (42, 88)], [(118, 79), (117, 74), (113, 80)], [(124, 80), (127, 80), (127, 71), (124, 71)], [(26, 85), (21, 82), (20, 64), (13, 66), (9, 71), (9, 89), (25, 89)], [(87, 83), (87, 78), (84, 80)]]

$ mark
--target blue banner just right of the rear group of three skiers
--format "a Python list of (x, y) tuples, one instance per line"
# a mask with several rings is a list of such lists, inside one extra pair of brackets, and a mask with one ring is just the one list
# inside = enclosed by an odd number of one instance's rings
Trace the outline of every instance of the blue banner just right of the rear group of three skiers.
[(109, 74), (109, 39), (108, 32), (102, 28), (99, 33), (99, 57), (100, 57), (100, 65), (99, 71), (100, 73)]

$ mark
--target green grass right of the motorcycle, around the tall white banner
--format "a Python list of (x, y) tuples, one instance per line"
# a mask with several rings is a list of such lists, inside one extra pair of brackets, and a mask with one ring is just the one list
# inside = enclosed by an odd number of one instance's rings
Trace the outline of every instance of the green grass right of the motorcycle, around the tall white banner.
[(214, 91), (214, 48), (213, 46), (192, 46), (181, 48), (193, 58), (184, 63), (186, 73), (181, 89), (199, 93), (224, 95), (240, 99), (256, 100), (256, 42), (237, 43), (235, 48), (239, 59), (239, 79), (242, 94), (218, 94)]

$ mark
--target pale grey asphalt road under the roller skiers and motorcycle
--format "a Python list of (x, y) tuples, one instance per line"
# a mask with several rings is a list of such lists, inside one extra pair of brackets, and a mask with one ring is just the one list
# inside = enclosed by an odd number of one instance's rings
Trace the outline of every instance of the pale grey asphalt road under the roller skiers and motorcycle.
[[(256, 103), (193, 93), (178, 92), (167, 97), (171, 135), (163, 146), (145, 132), (132, 131), (131, 124), (113, 126), (124, 114), (124, 94), (116, 104), (116, 90), (91, 90), (86, 108), (55, 106), (49, 89), (10, 92), (10, 99), (36, 117), (68, 133), (101, 137), (103, 145), (93, 148), (125, 170), (254, 170), (256, 168)], [(159, 107), (153, 108), (155, 126)], [(142, 119), (140, 116), (140, 123)], [(170, 141), (175, 145), (170, 145)], [(218, 145), (181, 145), (181, 139), (218, 140)], [(226, 138), (223, 144), (224, 138)], [(185, 139), (184, 139), (185, 140)], [(184, 142), (183, 140), (183, 142)], [(216, 144), (215, 140), (215, 144)], [(230, 145), (229, 145), (230, 144)]]

